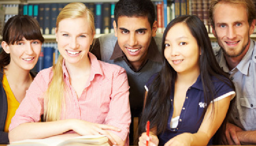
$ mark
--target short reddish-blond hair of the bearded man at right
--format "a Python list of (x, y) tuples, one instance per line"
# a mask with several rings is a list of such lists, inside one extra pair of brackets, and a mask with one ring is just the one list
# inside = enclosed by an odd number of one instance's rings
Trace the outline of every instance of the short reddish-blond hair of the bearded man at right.
[(242, 4), (246, 8), (249, 25), (251, 25), (251, 23), (253, 22), (253, 19), (256, 18), (255, 5), (252, 0), (211, 0), (210, 8), (209, 8), (209, 17), (210, 17), (210, 21), (213, 26), (213, 29), (215, 29), (214, 10), (218, 3)]

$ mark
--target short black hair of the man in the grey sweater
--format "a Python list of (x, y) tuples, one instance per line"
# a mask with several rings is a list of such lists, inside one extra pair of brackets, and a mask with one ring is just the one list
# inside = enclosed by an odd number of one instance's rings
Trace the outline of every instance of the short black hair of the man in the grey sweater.
[(151, 0), (119, 0), (114, 10), (115, 21), (119, 16), (147, 16), (152, 29), (156, 14), (155, 7)]

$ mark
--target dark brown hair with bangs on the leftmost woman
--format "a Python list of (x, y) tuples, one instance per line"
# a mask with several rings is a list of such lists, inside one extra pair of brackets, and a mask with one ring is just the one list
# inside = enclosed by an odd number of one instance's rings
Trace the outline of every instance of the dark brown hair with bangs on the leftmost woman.
[[(44, 37), (40, 32), (40, 26), (36, 19), (27, 15), (16, 15), (8, 19), (3, 27), (3, 39), (8, 45), (14, 45), (23, 39), (44, 42)], [(5, 51), (0, 53), (0, 68), (10, 63), (10, 54)]]

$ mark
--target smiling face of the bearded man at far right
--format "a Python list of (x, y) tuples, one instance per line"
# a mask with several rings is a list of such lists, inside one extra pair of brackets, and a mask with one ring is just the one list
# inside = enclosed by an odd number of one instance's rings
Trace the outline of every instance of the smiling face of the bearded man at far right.
[(249, 49), (249, 36), (254, 26), (249, 26), (243, 5), (218, 3), (214, 10), (213, 33), (227, 57), (245, 55)]

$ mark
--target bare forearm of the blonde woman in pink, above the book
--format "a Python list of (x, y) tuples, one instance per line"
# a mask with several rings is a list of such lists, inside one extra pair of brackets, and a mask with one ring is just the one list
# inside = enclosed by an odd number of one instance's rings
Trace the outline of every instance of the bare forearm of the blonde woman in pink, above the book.
[(25, 139), (42, 139), (64, 133), (71, 130), (70, 120), (22, 123), (9, 132), (10, 143)]

